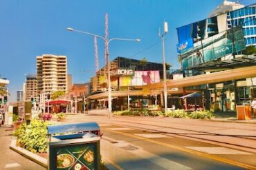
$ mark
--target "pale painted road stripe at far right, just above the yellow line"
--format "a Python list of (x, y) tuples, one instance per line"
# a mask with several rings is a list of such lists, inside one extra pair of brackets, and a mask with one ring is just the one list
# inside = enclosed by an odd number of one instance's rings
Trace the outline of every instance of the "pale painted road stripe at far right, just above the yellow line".
[(229, 149), (226, 147), (186, 147), (196, 151), (202, 151), (208, 154), (216, 155), (253, 155), (252, 153), (237, 151), (235, 149)]

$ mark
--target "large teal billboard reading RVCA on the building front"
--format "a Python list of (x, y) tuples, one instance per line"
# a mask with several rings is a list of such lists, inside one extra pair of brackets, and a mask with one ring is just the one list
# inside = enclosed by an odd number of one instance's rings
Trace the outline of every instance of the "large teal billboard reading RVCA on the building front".
[(208, 39), (194, 43), (194, 47), (184, 54), (183, 68), (193, 67), (222, 56), (245, 49), (241, 26), (216, 34)]

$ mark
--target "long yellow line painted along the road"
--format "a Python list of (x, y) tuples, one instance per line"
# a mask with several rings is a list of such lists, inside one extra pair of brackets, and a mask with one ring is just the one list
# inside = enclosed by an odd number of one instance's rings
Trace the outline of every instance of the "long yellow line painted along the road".
[(210, 158), (212, 160), (217, 160), (219, 162), (224, 162), (226, 164), (232, 164), (232, 165), (235, 165), (237, 167), (242, 167), (242, 168), (245, 168), (245, 169), (255, 169), (256, 170), (256, 167), (254, 167), (252, 165), (249, 165), (249, 164), (244, 164), (244, 163), (241, 163), (241, 162), (235, 162), (235, 161), (232, 161), (232, 160), (228, 160), (226, 158), (221, 158), (219, 156), (209, 155), (207, 153), (201, 153), (199, 151), (194, 151), (192, 149), (188, 149), (188, 148), (185, 148), (185, 147), (178, 147), (178, 146), (175, 146), (175, 145), (170, 145), (170, 144), (167, 144), (167, 143), (164, 143), (164, 142), (159, 142), (159, 141), (152, 140), (152, 139), (149, 139), (149, 138), (143, 138), (141, 136), (136, 136), (134, 134), (127, 134), (127, 133), (124, 133), (124, 132), (120, 133), (118, 131), (112, 131), (110, 129), (106, 129), (106, 130), (109, 131), (109, 132), (112, 132), (114, 134), (120, 134), (120, 135), (124, 135), (124, 136), (129, 136), (131, 138), (136, 138), (136, 139), (139, 139), (139, 140), (145, 140), (147, 142), (152, 142), (152, 143), (155, 143), (157, 145), (162, 145), (164, 147), (170, 147), (172, 149), (185, 151), (185, 152), (192, 153), (192, 154), (202, 156), (202, 157), (205, 157), (205, 158)]

